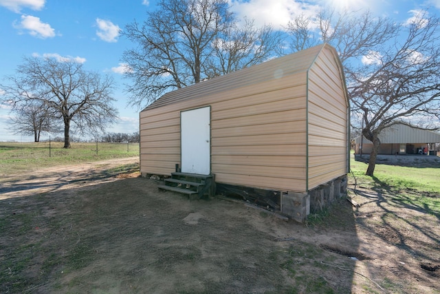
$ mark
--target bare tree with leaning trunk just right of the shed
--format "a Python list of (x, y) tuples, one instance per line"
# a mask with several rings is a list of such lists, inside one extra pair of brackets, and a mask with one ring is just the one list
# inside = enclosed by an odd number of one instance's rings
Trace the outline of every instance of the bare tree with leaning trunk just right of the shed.
[[(434, 129), (439, 126), (439, 19), (419, 14), (409, 23), (392, 19), (333, 12), (305, 19), (311, 36), (333, 45), (347, 77), (352, 122), (363, 120), (361, 133), (373, 142), (366, 174), (373, 176), (380, 146), (378, 135), (386, 127), (406, 121)], [(289, 27), (292, 31), (292, 28)], [(305, 44), (292, 31), (292, 50)], [(300, 36), (304, 36), (303, 33)]]

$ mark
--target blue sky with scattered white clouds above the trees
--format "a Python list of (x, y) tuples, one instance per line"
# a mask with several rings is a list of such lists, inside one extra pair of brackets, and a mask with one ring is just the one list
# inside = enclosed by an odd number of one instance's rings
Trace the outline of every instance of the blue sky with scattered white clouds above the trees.
[[(313, 15), (322, 6), (369, 9), (374, 14), (404, 23), (418, 10), (440, 13), (440, 0), (229, 0), (237, 17), (256, 25), (283, 25), (296, 14)], [(120, 36), (127, 23), (142, 23), (155, 0), (0, 0), (0, 81), (14, 74), (24, 56), (74, 58), (85, 70), (110, 74), (116, 81), (113, 96), (120, 120), (108, 132), (132, 133), (139, 129), (139, 112), (126, 106), (121, 57), (134, 44)], [(1, 94), (1, 89), (0, 89)], [(32, 140), (8, 131), (8, 109), (0, 105), (0, 141)]]

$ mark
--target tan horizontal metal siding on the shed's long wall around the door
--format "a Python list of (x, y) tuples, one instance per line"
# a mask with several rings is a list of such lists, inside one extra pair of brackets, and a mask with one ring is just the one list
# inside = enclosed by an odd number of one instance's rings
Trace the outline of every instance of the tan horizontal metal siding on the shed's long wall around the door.
[[(283, 187), (291, 191), (305, 191), (306, 76), (304, 72), (285, 76), (261, 83), (258, 87), (215, 93), (200, 100), (203, 105), (208, 103), (211, 106), (211, 169), (217, 181), (237, 185), (236, 180), (230, 180), (233, 174), (241, 179), (240, 185), (279, 189), (275, 183), (281, 182), (279, 176), (282, 174), (285, 178)], [(152, 174), (151, 171), (161, 170), (170, 174), (174, 170), (175, 163), (179, 163), (180, 159), (171, 164), (169, 158), (175, 159), (173, 152), (179, 151), (174, 148), (180, 143), (180, 131), (175, 132), (180, 110), (200, 106), (197, 99), (189, 99), (143, 112), (141, 140), (144, 143), (141, 154), (161, 159), (141, 159), (142, 172)], [(167, 125), (165, 122), (170, 123)], [(151, 127), (152, 124), (160, 125), (166, 134), (160, 134), (159, 130)], [(159, 152), (155, 148), (159, 145), (169, 151), (155, 153)], [(241, 160), (231, 160), (237, 156)], [(258, 160), (243, 159), (249, 156), (261, 158), (261, 165), (256, 165)], [(279, 160), (284, 156), (289, 160)], [(262, 164), (271, 162), (270, 158), (275, 159), (271, 164)], [(261, 177), (265, 177), (265, 184), (261, 182)], [(294, 180), (287, 180), (289, 178)], [(298, 181), (302, 183), (300, 187), (294, 185)], [(272, 185), (269, 185), (270, 182)]]

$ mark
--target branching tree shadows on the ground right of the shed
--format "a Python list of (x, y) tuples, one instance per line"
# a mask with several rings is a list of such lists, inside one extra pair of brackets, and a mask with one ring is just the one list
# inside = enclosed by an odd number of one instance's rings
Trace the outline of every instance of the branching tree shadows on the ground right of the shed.
[(440, 198), (422, 196), (414, 191), (399, 191), (372, 177), (371, 191), (356, 191), (366, 202), (375, 204), (378, 218), (360, 218), (358, 223), (382, 240), (399, 246), (420, 260), (440, 262)]

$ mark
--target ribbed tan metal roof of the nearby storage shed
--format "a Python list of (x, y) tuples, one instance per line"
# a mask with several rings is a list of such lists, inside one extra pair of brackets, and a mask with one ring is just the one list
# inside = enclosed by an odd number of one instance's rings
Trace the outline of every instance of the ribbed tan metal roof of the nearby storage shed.
[[(326, 46), (331, 48), (336, 56), (338, 55), (333, 47), (324, 43), (307, 50), (298, 51), (270, 61), (265, 61), (258, 65), (246, 67), (242, 70), (237, 70), (236, 72), (211, 78), (208, 81), (202, 81), (195, 85), (168, 92), (158, 98), (157, 101), (151, 103), (151, 105), (148, 105), (144, 110), (161, 107), (176, 101), (199, 98), (209, 94), (223, 92), (224, 90), (232, 90), (246, 85), (271, 81), (277, 78), (282, 78), (283, 76), (297, 74), (299, 72), (306, 72), (314, 63), (321, 50)], [(339, 59), (338, 63), (340, 63)], [(340, 68), (342, 68), (342, 65), (340, 65)]]

